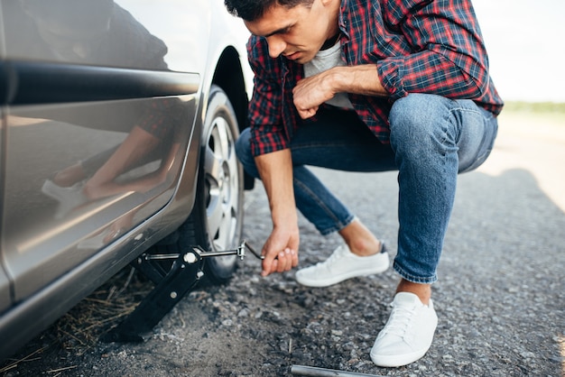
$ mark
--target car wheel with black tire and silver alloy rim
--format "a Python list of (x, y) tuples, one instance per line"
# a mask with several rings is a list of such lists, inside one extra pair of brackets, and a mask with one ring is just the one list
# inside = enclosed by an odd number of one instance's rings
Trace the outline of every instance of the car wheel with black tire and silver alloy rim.
[[(244, 220), (244, 172), (236, 158), (238, 135), (236, 112), (229, 98), (220, 87), (212, 86), (202, 126), (194, 207), (179, 230), (153, 246), (150, 253), (184, 253), (193, 245), (219, 252), (239, 245)], [(201, 282), (227, 282), (236, 270), (236, 258), (205, 258), (205, 278)], [(164, 276), (171, 262), (155, 261), (153, 266)]]

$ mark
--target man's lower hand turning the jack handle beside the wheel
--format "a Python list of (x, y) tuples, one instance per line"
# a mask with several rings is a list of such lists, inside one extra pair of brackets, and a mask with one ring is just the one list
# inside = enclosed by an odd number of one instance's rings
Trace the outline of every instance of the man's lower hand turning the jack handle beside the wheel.
[(264, 260), (262, 276), (267, 276), (273, 272), (290, 271), (298, 265), (298, 228), (282, 230), (273, 229), (273, 233), (263, 246)]

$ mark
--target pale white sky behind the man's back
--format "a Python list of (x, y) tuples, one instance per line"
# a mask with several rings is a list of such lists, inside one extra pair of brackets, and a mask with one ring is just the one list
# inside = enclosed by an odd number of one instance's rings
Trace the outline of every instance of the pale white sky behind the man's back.
[(505, 101), (565, 102), (565, 1), (473, 0)]

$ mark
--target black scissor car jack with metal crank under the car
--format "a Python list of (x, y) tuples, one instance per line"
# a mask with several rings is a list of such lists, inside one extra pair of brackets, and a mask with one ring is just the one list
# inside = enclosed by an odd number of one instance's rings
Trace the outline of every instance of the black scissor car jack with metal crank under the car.
[[(137, 259), (135, 268), (156, 285), (123, 322), (100, 338), (102, 342), (143, 342), (141, 334), (151, 331), (177, 302), (196, 288), (204, 277), (205, 258), (237, 255), (243, 260), (246, 249), (258, 259), (264, 259), (245, 241), (234, 250), (221, 252), (206, 252), (200, 246), (191, 246), (189, 249), (181, 254), (144, 253)], [(171, 269), (163, 272), (154, 265), (154, 260), (173, 260)]]

